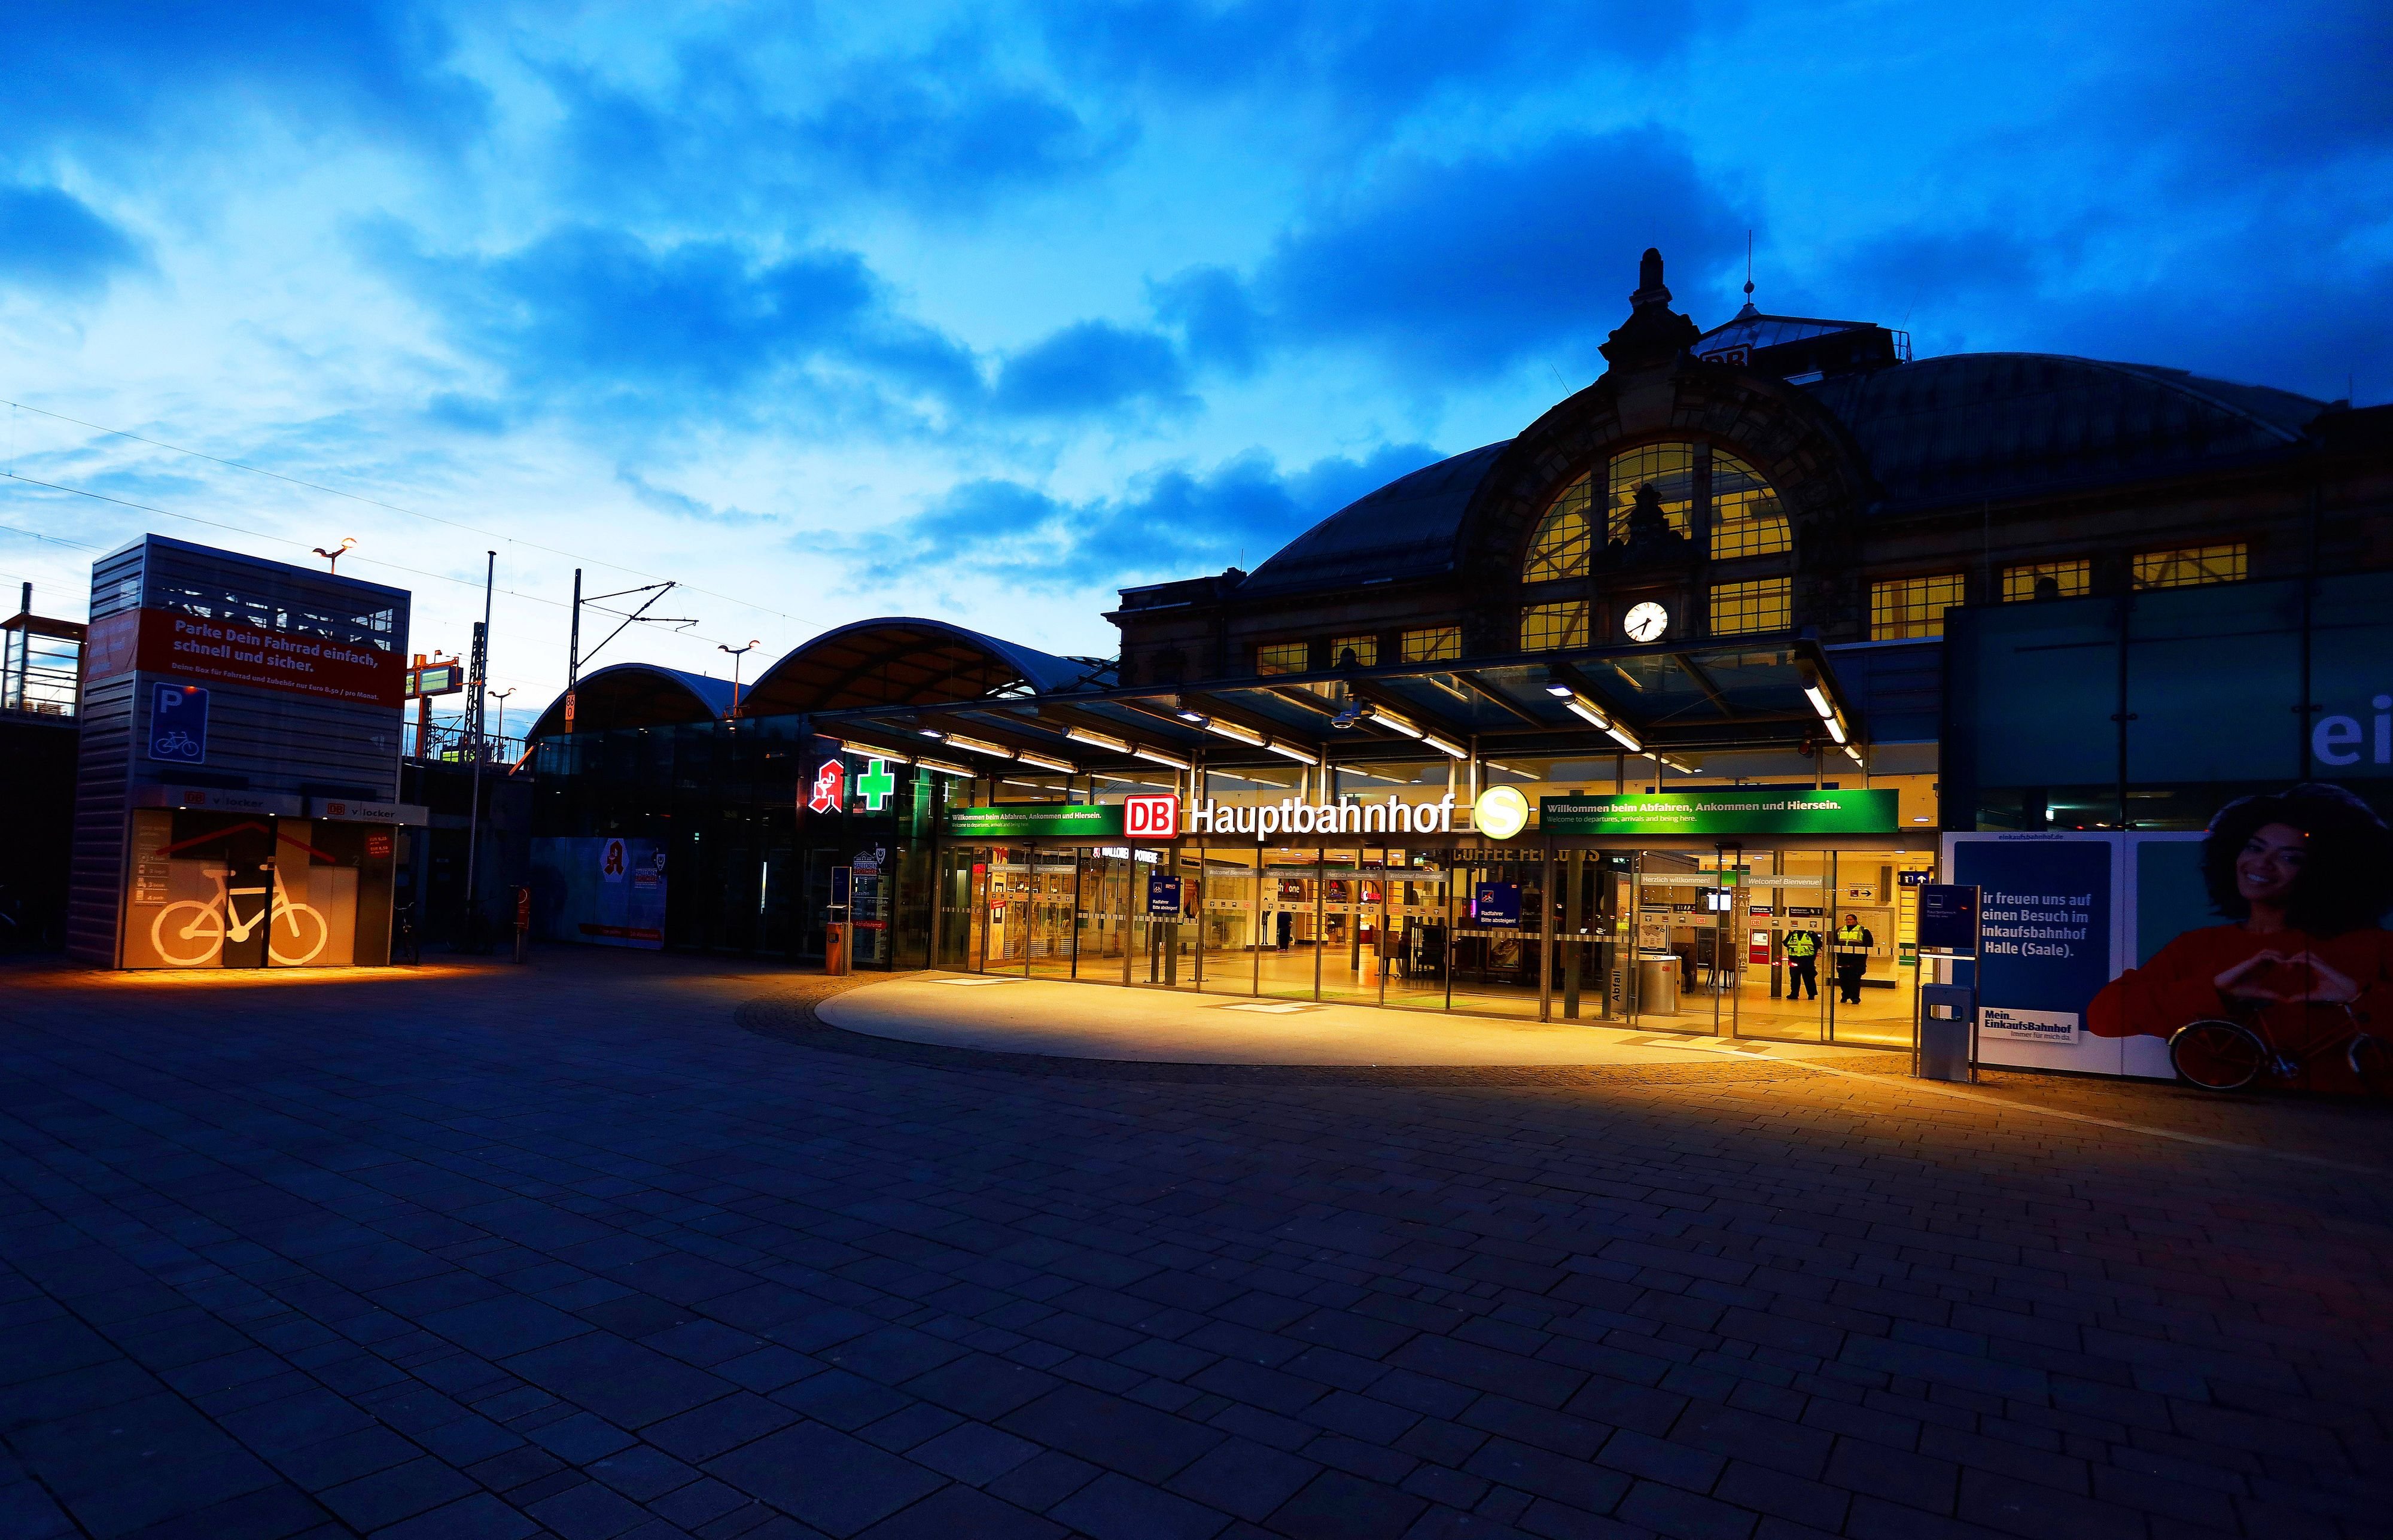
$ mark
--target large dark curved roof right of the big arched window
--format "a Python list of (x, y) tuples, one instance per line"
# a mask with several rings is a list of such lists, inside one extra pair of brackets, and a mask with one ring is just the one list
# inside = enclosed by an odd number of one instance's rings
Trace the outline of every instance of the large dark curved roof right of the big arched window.
[(1802, 390), (1859, 442), (1895, 507), (2144, 481), (2302, 442), (2326, 402), (2182, 368), (1950, 354)]

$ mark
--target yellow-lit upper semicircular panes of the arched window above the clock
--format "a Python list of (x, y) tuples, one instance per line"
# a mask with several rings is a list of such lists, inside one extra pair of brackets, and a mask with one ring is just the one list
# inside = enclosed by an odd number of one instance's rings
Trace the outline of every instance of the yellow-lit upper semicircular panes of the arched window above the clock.
[[(1778, 493), (1761, 471), (1711, 445), (1639, 445), (1563, 488), (1529, 538), (1520, 579), (1546, 583), (1587, 576), (1599, 538), (1627, 538), (1630, 505), (1646, 483), (1654, 485), (1670, 528), (1682, 536), (1711, 533), (1713, 557), (1761, 557), (1792, 548), (1785, 509), (1778, 507)], [(1596, 488), (1603, 488), (1601, 536), (1594, 512)]]

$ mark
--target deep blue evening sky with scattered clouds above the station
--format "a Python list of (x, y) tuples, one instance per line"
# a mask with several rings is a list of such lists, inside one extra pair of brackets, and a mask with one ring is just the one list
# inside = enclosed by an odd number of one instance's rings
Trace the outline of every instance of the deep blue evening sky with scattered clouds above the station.
[(1922, 354), (2393, 397), (2381, 5), (86, 2), (10, 33), (5, 581), (81, 615), (91, 548), (144, 528), (349, 536), (457, 648), (495, 545), (514, 710), (562, 682), (574, 564), (689, 586), (660, 610), (696, 627), (601, 662), (727, 672), (718, 643), (866, 615), (1106, 655), (1113, 588), (1254, 567), (1591, 380), (1649, 244), (1704, 325), (1752, 230), (1764, 308)]

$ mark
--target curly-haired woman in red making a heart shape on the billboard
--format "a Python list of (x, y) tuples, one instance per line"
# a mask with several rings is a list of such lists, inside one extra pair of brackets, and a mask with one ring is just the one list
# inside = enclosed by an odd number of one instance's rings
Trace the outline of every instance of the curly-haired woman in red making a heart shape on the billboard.
[[(2228, 1043), (2261, 1040), (2257, 1076), (2309, 1090), (2386, 1090), (2393, 1040), (2393, 832), (2324, 782), (2218, 808), (2202, 842), (2202, 875), (2228, 925), (2187, 930), (2149, 964), (2111, 980), (2087, 1012), (2103, 1038), (2175, 1038), (2197, 1021)], [(2359, 1043), (2355, 1033), (2374, 1038)], [(2204, 1081), (2187, 1069), (2197, 1083)], [(2233, 1078), (2233, 1076), (2230, 1076)]]

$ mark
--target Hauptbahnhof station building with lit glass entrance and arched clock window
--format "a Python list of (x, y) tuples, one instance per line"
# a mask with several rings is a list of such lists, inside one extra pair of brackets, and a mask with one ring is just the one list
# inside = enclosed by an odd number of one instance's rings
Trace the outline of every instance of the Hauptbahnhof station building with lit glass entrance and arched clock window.
[(529, 734), (543, 930), (1905, 1045), (1960, 835), (2386, 806), (2393, 409), (1701, 330), (1651, 251), (1603, 356), (1254, 572), (1125, 588), (1115, 660), (902, 617), (737, 708), (589, 674)]

